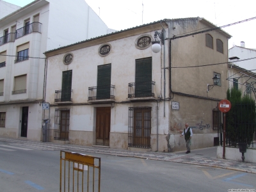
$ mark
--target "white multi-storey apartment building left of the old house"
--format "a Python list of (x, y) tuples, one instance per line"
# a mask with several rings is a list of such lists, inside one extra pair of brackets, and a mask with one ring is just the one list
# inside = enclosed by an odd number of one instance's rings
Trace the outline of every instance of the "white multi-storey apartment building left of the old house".
[(42, 140), (43, 53), (112, 31), (84, 0), (36, 0), (0, 19), (0, 136)]

